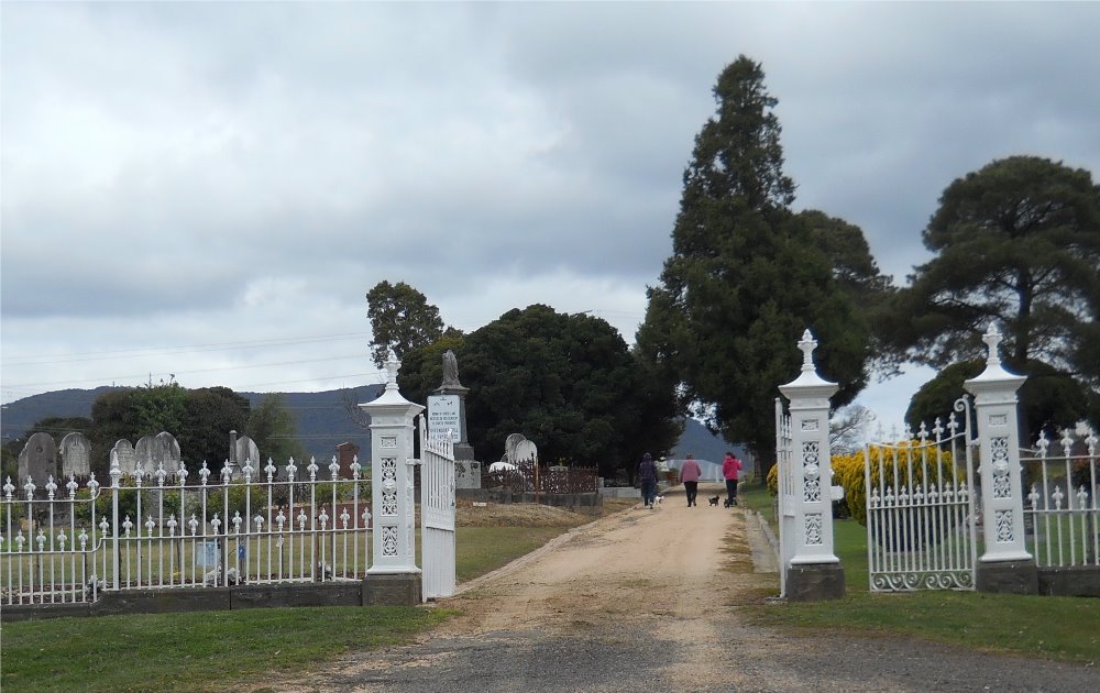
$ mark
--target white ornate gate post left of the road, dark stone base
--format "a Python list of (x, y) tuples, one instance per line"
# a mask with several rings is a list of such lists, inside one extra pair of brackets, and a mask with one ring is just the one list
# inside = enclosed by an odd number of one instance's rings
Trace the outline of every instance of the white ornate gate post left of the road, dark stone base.
[(371, 417), (371, 498), (374, 509), (374, 561), (367, 573), (365, 602), (419, 604), (420, 569), (416, 565), (416, 501), (413, 496), (413, 421), (424, 407), (397, 389), (400, 361), (389, 351), (386, 389), (359, 405)]

